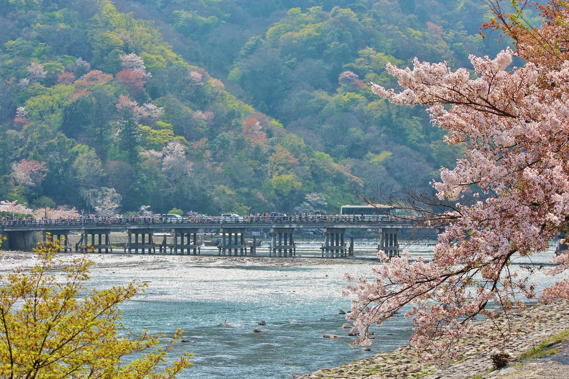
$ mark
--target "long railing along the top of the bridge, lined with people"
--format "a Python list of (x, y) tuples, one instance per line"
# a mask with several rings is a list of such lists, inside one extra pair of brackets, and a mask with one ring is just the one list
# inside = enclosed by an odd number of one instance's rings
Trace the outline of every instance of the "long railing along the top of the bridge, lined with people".
[(187, 216), (174, 218), (172, 216), (138, 216), (138, 217), (96, 217), (96, 218), (72, 218), (72, 219), (40, 219), (40, 220), (0, 220), (0, 226), (88, 226), (109, 224), (117, 225), (144, 225), (144, 224), (167, 224), (172, 225), (188, 225), (188, 224), (262, 224), (262, 223), (391, 223), (394, 221), (399, 222), (413, 222), (419, 220), (419, 216), (405, 217), (404, 220), (398, 219), (390, 215), (311, 215), (311, 216)]

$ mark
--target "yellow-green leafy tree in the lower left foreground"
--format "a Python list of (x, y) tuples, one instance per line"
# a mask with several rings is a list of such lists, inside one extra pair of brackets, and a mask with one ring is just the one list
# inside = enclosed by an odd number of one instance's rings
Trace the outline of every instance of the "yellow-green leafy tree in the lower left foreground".
[[(119, 304), (146, 284), (88, 290), (93, 261), (84, 256), (63, 264), (55, 258), (62, 248), (48, 238), (34, 249), (39, 262), (28, 272), (0, 276), (0, 377), (173, 379), (192, 365), (184, 352), (164, 366), (166, 349), (181, 330), (166, 346), (163, 336), (146, 331), (139, 338), (119, 334)], [(63, 264), (63, 281), (50, 274), (56, 264)]]

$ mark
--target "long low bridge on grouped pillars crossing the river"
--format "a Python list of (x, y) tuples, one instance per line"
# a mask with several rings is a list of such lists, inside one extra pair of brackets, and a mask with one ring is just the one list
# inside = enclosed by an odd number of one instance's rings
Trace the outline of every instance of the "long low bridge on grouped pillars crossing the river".
[[(221, 234), (220, 255), (244, 255), (246, 253), (245, 234), (247, 230), (270, 230), (273, 240), (269, 256), (291, 257), (294, 254), (294, 231), (297, 229), (323, 229), (323, 256), (345, 257), (353, 255), (353, 238), (350, 248), (344, 241), (347, 229), (376, 229), (380, 232), (378, 248), (388, 256), (398, 256), (397, 235), (400, 230), (417, 227), (420, 221), (398, 219), (394, 216), (195, 216), (195, 217), (114, 217), (114, 218), (73, 218), (42, 220), (3, 220), (0, 221), (0, 234), (6, 236), (4, 248), (13, 250), (31, 250), (35, 247), (35, 235), (41, 232), (45, 240), (50, 233), (54, 238), (67, 240), (68, 235), (79, 232), (80, 245), (91, 245), (98, 252), (112, 250), (109, 235), (112, 231), (125, 231), (127, 241), (125, 252), (150, 253), (156, 246), (160, 252), (166, 252), (166, 235), (159, 244), (153, 240), (154, 231), (169, 230), (174, 236), (170, 252), (184, 251), (187, 254), (199, 254), (197, 243), (200, 230), (218, 229)], [(89, 238), (90, 236), (90, 238)], [(134, 236), (134, 239), (133, 239)], [(89, 241), (90, 239), (90, 241)], [(178, 240), (180, 241), (178, 242)], [(185, 239), (185, 241), (184, 241)], [(255, 236), (253, 236), (254, 251)], [(67, 252), (67, 246), (65, 246)]]

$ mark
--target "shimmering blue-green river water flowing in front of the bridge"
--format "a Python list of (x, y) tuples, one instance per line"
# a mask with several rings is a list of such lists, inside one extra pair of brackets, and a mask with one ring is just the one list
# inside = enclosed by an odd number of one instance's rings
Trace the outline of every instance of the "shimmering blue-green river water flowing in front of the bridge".
[[(417, 247), (415, 254), (427, 256), (428, 247)], [(549, 257), (538, 260), (546, 263)], [(377, 263), (219, 266), (186, 258), (92, 270), (97, 288), (147, 282), (145, 294), (121, 306), (123, 324), (135, 333), (147, 328), (171, 335), (182, 328), (188, 342), (176, 344), (170, 355), (192, 352), (195, 365), (179, 378), (291, 378), (393, 350), (409, 338), (410, 322), (399, 316), (374, 330), (372, 351), (349, 346), (353, 338), (341, 327), (346, 320), (338, 314), (350, 307), (340, 294), (346, 285), (343, 274), (369, 275)], [(537, 275), (540, 288), (551, 282)], [(258, 326), (260, 320), (267, 325)], [(255, 333), (254, 328), (262, 331)], [(325, 333), (343, 337), (323, 338)]]

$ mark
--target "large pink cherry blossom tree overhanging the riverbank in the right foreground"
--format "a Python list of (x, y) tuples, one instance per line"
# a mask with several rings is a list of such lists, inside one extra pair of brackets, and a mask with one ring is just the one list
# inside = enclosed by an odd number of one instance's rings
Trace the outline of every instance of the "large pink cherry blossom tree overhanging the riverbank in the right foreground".
[[(426, 106), (431, 122), (449, 131), (447, 143), (467, 142), (467, 151), (433, 182), (451, 209), (441, 215), (446, 228), (433, 259), (411, 261), (406, 252), (389, 261), (381, 252), (384, 264), (373, 279), (347, 275), (357, 343), (369, 344), (370, 325), (410, 306), (406, 316), (416, 327), (408, 349), (444, 365), (459, 353), (452, 348), (457, 340), (475, 336), (475, 315), (495, 317), (489, 303), (508, 315), (537, 296), (536, 270), (560, 276), (542, 298), (569, 298), (568, 253), (552, 257), (551, 269), (510, 269), (520, 257), (546, 251), (569, 220), (569, 11), (556, 1), (538, 5), (543, 25), (529, 28), (521, 4), (512, 15), (491, 8), (496, 16), (486, 24), (512, 36), (516, 52), (471, 55), (474, 73), (417, 59), (412, 69), (387, 64), (403, 91), (372, 83), (374, 93), (395, 104)], [(521, 68), (511, 67), (516, 55), (527, 62)]]

